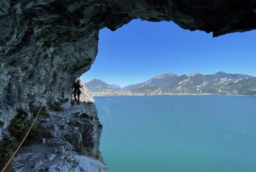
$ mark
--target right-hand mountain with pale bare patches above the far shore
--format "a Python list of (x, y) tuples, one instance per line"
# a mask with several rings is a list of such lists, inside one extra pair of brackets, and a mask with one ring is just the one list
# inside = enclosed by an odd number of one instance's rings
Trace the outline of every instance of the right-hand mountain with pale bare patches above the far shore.
[[(244, 74), (231, 74), (217, 72), (213, 75), (202, 75), (201, 73), (191, 73), (174, 78), (171, 82), (160, 86), (162, 93), (190, 93), (190, 94), (239, 94), (252, 95), (256, 85), (251, 81), (256, 81), (255, 77)], [(243, 82), (241, 82), (243, 81)], [(234, 84), (232, 84), (234, 83)], [(248, 87), (248, 84), (250, 85)], [(226, 85), (226, 86), (225, 86)], [(254, 91), (256, 94), (256, 91)]]

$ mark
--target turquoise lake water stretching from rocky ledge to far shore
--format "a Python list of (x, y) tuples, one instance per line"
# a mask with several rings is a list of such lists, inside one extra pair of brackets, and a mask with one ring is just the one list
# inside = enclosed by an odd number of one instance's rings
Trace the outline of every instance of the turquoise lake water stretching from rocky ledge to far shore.
[(110, 172), (256, 172), (256, 97), (94, 99)]

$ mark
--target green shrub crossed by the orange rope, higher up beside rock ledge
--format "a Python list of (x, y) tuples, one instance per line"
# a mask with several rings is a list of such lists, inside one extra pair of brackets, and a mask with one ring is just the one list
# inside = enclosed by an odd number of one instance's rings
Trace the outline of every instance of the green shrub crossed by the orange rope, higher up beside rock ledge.
[[(21, 109), (18, 109), (17, 111), (18, 115), (16, 118), (11, 120), (9, 130), (12, 132), (12, 137), (14, 137), (18, 142), (21, 142), (29, 131), (33, 121), (27, 120), (28, 114), (25, 111)], [(43, 127), (41, 124), (34, 124), (27, 138), (24, 140), (24, 144), (31, 144), (41, 139), (42, 131)]]

